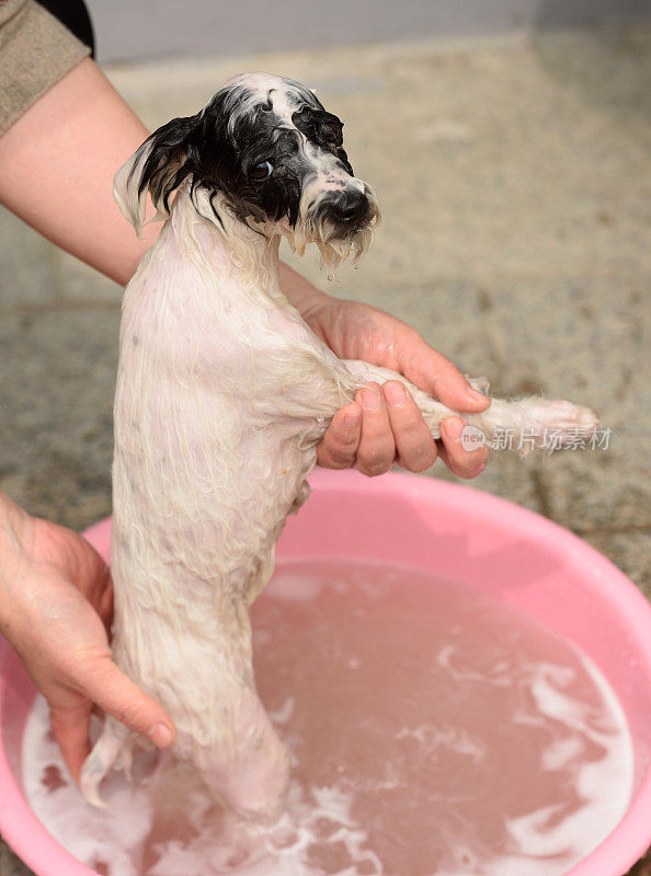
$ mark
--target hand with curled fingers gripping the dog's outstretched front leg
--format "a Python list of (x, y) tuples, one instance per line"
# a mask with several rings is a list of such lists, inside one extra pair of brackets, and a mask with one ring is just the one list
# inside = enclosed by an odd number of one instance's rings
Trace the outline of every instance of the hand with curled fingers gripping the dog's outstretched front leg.
[[(302, 318), (341, 358), (391, 368), (456, 411), (479, 412), (490, 404), (449, 359), (396, 316), (368, 304), (322, 295), (302, 310)], [(396, 380), (381, 388), (369, 383), (361, 389), (355, 402), (332, 418), (318, 447), (318, 464), (330, 469), (354, 466), (376, 475), (395, 462), (409, 471), (423, 471), (438, 457), (459, 477), (480, 474), (488, 449), (462, 448), (464, 420), (446, 417), (441, 440), (434, 441), (411, 394), (402, 389)]]

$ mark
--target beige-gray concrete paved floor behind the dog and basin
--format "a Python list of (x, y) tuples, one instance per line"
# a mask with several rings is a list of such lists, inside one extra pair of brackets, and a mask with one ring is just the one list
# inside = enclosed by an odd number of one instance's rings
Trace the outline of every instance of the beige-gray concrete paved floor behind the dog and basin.
[[(595, 407), (608, 450), (495, 454), (473, 484), (569, 527), (649, 597), (650, 48), (636, 26), (110, 71), (151, 126), (240, 70), (316, 88), (385, 216), (329, 290), (400, 315), (495, 393)], [(8, 215), (0, 264), (0, 488), (81, 528), (110, 511), (121, 289)], [(0, 876), (26, 873), (0, 845)]]

